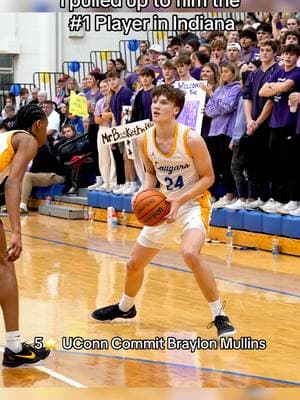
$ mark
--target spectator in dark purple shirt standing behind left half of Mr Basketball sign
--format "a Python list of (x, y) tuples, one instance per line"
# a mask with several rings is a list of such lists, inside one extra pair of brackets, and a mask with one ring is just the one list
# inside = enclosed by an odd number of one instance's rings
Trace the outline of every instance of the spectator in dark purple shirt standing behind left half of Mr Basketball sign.
[[(132, 92), (123, 86), (117, 71), (107, 74), (110, 90), (113, 92), (110, 100), (110, 108), (113, 113), (112, 126), (121, 125), (122, 107), (130, 106)], [(113, 144), (112, 152), (116, 162), (117, 185), (113, 188), (113, 193), (121, 194), (125, 190), (125, 179), (127, 182), (136, 181), (136, 173), (132, 160), (128, 160), (124, 144)], [(126, 171), (126, 172), (125, 172)], [(127, 187), (127, 186), (126, 186)]]

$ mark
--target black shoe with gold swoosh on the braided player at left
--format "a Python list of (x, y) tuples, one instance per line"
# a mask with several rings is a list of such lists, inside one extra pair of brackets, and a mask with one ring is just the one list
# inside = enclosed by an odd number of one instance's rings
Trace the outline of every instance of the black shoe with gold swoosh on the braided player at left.
[(22, 350), (19, 353), (5, 347), (2, 364), (5, 367), (15, 368), (23, 364), (35, 364), (47, 358), (50, 350), (42, 347), (37, 349), (34, 345), (22, 343)]

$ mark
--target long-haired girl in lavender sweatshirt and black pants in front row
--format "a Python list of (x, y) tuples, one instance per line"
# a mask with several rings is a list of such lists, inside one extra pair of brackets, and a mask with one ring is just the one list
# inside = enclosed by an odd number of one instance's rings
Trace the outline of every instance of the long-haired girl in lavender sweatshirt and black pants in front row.
[(225, 63), (221, 68), (221, 86), (208, 100), (205, 114), (212, 118), (208, 138), (208, 150), (213, 163), (215, 184), (223, 176), (225, 196), (214, 203), (214, 208), (225, 207), (234, 202), (235, 183), (231, 174), (232, 151), (229, 149), (233, 128), (236, 119), (236, 110), (241, 95), (239, 82), (239, 69), (231, 62)]

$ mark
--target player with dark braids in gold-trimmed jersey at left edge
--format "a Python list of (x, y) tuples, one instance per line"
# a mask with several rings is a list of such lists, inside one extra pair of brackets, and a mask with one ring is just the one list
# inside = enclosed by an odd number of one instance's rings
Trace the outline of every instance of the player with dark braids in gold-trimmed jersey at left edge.
[[(22, 251), (20, 200), (21, 183), (28, 163), (46, 139), (47, 117), (36, 105), (22, 107), (16, 118), (17, 130), (0, 135), (1, 205), (5, 204), (11, 225), (9, 245), (0, 221), (0, 304), (6, 329), (3, 365), (18, 367), (46, 358), (50, 351), (21, 343), (19, 332), (18, 284), (13, 262)], [(4, 190), (4, 193), (3, 193)], [(4, 199), (5, 194), (5, 199)]]

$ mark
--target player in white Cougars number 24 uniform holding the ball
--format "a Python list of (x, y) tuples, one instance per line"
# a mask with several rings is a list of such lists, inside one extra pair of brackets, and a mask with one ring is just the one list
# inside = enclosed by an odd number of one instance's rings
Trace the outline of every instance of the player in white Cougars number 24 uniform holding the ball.
[[(161, 85), (152, 92), (154, 127), (138, 137), (146, 175), (141, 190), (153, 189), (157, 182), (170, 202), (166, 223), (144, 227), (126, 266), (125, 291), (118, 304), (92, 313), (98, 321), (133, 318), (135, 297), (144, 277), (144, 268), (174, 236), (181, 236), (186, 265), (211, 308), (218, 336), (232, 336), (231, 325), (219, 298), (212, 271), (200, 259), (211, 214), (207, 189), (214, 182), (210, 156), (204, 140), (190, 128), (178, 124), (176, 117), (184, 105), (184, 94), (171, 85)], [(133, 202), (136, 195), (133, 197)]]

